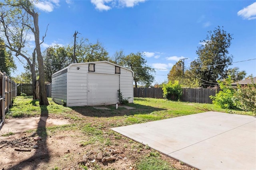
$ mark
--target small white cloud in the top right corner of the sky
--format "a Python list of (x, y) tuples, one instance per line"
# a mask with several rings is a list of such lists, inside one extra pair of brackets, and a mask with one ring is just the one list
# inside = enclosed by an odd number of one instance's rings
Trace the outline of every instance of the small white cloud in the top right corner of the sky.
[(256, 19), (256, 2), (238, 11), (237, 15), (241, 16), (244, 20)]

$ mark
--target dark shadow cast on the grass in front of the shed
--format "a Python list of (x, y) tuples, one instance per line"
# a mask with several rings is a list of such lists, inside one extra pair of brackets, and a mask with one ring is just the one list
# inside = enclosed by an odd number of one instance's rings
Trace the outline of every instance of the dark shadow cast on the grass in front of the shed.
[[(121, 105), (125, 106), (125, 105)], [(149, 114), (153, 111), (166, 110), (157, 107), (145, 106), (140, 104), (129, 104), (128, 106), (134, 107), (134, 109), (126, 109), (124, 107), (118, 107), (116, 109), (115, 105), (106, 105), (100, 107), (106, 107), (108, 109), (96, 109), (93, 106), (76, 106), (70, 107), (74, 111), (80, 113), (81, 115), (88, 117), (114, 117), (114, 116), (124, 116), (124, 115), (135, 115), (135, 114)]]

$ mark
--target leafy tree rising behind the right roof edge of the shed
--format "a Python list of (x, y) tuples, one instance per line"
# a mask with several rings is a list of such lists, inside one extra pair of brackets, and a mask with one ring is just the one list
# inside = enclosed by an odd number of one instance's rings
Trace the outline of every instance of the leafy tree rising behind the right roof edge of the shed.
[(144, 59), (144, 54), (137, 52), (136, 54), (130, 53), (120, 60), (121, 66), (131, 69), (134, 72), (134, 82), (137, 88), (137, 83), (143, 84), (148, 87), (154, 81), (154, 76), (151, 74), (155, 72), (153, 68), (147, 66), (147, 61)]

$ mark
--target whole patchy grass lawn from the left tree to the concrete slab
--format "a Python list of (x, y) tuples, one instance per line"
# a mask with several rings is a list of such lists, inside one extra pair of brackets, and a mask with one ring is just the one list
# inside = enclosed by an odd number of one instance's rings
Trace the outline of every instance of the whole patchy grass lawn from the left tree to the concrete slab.
[[(13, 106), (10, 108), (10, 112), (6, 114), (6, 118), (48, 116), (57, 119), (69, 119), (71, 124), (46, 127), (46, 131), (42, 131), (42, 134), (38, 135), (46, 138), (50, 134), (57, 134), (63, 131), (68, 131), (70, 134), (79, 132), (84, 137), (80, 142), (82, 146), (91, 145), (93, 148), (119, 146), (130, 149), (128, 152), (140, 153), (134, 158), (137, 160), (135, 168), (140, 170), (174, 170), (175, 168), (172, 167), (170, 162), (162, 160), (162, 154), (158, 154), (152, 149), (147, 151), (141, 144), (130, 142), (130, 139), (112, 131), (112, 127), (145, 123), (206, 111), (255, 116), (255, 113), (252, 112), (221, 109), (213, 104), (173, 102), (154, 98), (134, 98), (134, 103), (127, 104), (127, 106), (135, 107), (136, 109), (130, 110), (122, 107), (116, 109), (115, 106), (104, 106), (108, 107), (109, 110), (94, 109), (90, 106), (64, 107), (52, 102), (51, 98), (48, 98), (48, 100), (49, 106), (39, 106), (39, 101), (32, 100), (31, 96), (18, 96), (14, 99)], [(134, 148), (137, 151), (134, 151)], [(143, 152), (141, 152), (142, 150)]]

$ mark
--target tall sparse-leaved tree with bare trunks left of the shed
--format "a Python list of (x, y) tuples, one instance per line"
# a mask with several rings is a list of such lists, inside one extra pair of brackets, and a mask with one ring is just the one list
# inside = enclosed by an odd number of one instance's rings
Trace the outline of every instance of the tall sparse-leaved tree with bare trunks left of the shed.
[[(5, 47), (13, 51), (16, 57), (21, 56), (30, 65), (32, 73), (33, 98), (36, 99), (36, 75), (35, 63), (38, 62), (39, 70), (39, 104), (49, 105), (44, 85), (44, 61), (40, 45), (44, 42), (43, 36), (40, 42), (38, 25), (38, 12), (34, 8), (34, 0), (4, 0), (0, 2), (0, 29), (6, 37)], [(29, 41), (34, 37), (34, 51), (28, 54)], [(32, 41), (31, 41), (32, 42)], [(30, 42), (30, 43), (31, 43)], [(32, 56), (32, 63), (30, 57)]]

